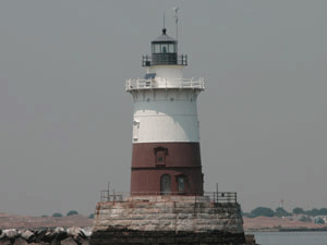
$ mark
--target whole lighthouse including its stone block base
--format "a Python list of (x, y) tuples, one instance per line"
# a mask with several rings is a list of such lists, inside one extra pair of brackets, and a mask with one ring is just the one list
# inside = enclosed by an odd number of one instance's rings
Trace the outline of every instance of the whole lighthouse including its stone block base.
[(187, 56), (166, 28), (142, 57), (133, 96), (131, 192), (101, 192), (90, 245), (244, 244), (237, 193), (204, 192), (196, 99), (203, 78), (184, 78)]

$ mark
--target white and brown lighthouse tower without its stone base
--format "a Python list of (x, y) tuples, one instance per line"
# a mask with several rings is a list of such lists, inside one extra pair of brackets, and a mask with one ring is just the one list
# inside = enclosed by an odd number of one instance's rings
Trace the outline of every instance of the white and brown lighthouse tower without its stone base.
[(142, 57), (144, 78), (126, 79), (133, 96), (131, 195), (203, 195), (197, 96), (203, 78), (184, 78), (187, 56), (164, 28)]

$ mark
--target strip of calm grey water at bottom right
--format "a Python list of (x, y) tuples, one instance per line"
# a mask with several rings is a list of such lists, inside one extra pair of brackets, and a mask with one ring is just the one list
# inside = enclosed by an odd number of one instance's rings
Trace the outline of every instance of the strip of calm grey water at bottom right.
[(327, 232), (254, 232), (261, 245), (327, 245)]

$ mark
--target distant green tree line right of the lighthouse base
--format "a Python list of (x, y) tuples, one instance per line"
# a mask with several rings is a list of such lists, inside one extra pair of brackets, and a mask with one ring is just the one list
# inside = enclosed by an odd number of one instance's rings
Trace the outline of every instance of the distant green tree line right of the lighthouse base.
[(279, 207), (275, 211), (271, 208), (267, 207), (257, 207), (253, 209), (251, 212), (243, 212), (244, 217), (247, 218), (255, 218), (259, 216), (264, 217), (288, 217), (292, 215), (306, 215), (311, 217), (315, 216), (327, 216), (327, 208), (316, 209), (313, 208), (312, 210), (304, 210), (303, 208), (296, 207), (292, 210), (292, 212), (288, 212), (283, 208)]

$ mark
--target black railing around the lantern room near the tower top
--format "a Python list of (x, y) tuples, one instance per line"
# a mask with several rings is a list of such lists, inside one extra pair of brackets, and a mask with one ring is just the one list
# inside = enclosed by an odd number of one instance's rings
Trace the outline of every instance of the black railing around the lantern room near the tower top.
[(179, 64), (187, 65), (187, 54), (177, 56), (175, 53), (153, 53), (142, 57), (142, 66)]

